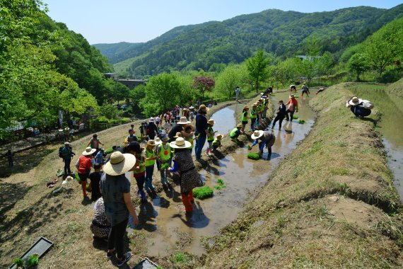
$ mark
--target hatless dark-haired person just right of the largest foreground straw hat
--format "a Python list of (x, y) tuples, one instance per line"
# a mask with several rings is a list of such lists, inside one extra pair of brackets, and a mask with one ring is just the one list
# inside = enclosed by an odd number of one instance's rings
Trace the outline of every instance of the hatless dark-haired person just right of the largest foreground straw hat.
[(137, 183), (137, 195), (141, 198), (142, 202), (147, 202), (146, 193), (144, 193), (144, 182), (146, 181), (146, 166), (144, 166), (143, 151), (139, 142), (132, 142), (127, 146), (127, 152), (136, 157), (136, 164), (133, 169), (133, 177)]

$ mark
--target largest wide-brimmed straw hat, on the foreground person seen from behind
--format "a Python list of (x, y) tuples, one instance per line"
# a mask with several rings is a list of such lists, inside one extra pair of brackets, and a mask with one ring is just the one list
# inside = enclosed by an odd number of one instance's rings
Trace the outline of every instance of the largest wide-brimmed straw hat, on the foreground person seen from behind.
[(119, 176), (132, 169), (134, 164), (136, 157), (133, 154), (115, 151), (110, 155), (110, 161), (105, 164), (103, 171), (110, 176)]

